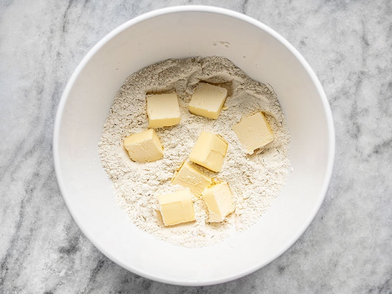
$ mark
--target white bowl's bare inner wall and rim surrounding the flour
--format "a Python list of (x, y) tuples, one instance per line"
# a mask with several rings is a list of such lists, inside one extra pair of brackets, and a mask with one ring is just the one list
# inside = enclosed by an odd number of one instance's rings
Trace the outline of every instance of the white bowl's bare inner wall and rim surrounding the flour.
[[(163, 59), (196, 55), (225, 56), (255, 80), (273, 86), (292, 135), (293, 172), (257, 224), (220, 244), (188, 249), (156, 240), (128, 220), (100, 166), (98, 139), (112, 99), (130, 73)], [(268, 26), (208, 6), (152, 11), (104, 37), (70, 78), (53, 139), (59, 186), (83, 233), (125, 269), (180, 285), (233, 280), (288, 249), (319, 210), (334, 148), (327, 99), (303, 57)]]

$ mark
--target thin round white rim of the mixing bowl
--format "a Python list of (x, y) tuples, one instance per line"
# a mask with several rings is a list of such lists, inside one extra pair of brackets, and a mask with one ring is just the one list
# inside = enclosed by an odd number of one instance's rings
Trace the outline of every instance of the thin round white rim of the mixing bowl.
[[(302, 226), (299, 228), (297, 234), (295, 236), (288, 240), (285, 245), (282, 246), (282, 249), (275, 255), (271, 256), (267, 261), (259, 263), (256, 267), (249, 268), (247, 270), (244, 270), (242, 272), (238, 272), (232, 275), (225, 276), (223, 278), (218, 278), (218, 279), (210, 279), (210, 280), (204, 280), (204, 281), (178, 281), (174, 280), (171, 278), (165, 278), (162, 276), (155, 276), (151, 275), (148, 272), (139, 270), (137, 268), (132, 267), (131, 265), (123, 263), (122, 260), (117, 259), (114, 257), (110, 252), (108, 252), (104, 247), (102, 247), (96, 240), (94, 240), (93, 236), (89, 233), (88, 230), (86, 230), (78, 221), (78, 217), (74, 214), (72, 209), (70, 208), (70, 203), (68, 200), (68, 197), (66, 196), (66, 189), (65, 189), (65, 183), (63, 181), (62, 177), (62, 172), (60, 170), (60, 157), (59, 157), (59, 133), (60, 133), (60, 126), (61, 126), (61, 121), (63, 118), (64, 114), (64, 108), (66, 101), (68, 99), (68, 96), (70, 94), (71, 89), (73, 88), (73, 85), (76, 81), (76, 78), (78, 77), (79, 73), (83, 70), (83, 68), (86, 66), (86, 64), (90, 61), (90, 59), (94, 56), (94, 54), (97, 53), (99, 49), (101, 49), (108, 41), (110, 41), (112, 38), (114, 38), (116, 35), (124, 31), (125, 29), (129, 28), (132, 25), (136, 25), (140, 22), (143, 22), (147, 19), (154, 18), (157, 16), (165, 15), (165, 14), (171, 14), (171, 13), (178, 13), (178, 12), (209, 12), (209, 13), (216, 13), (216, 14), (221, 14), (224, 16), (236, 18), (239, 20), (242, 20), (248, 24), (254, 25), (258, 27), (261, 30), (264, 30), (268, 34), (270, 34), (272, 37), (274, 37), (276, 40), (278, 40), (282, 45), (284, 45), (293, 55), (294, 57), (300, 62), (300, 64), (304, 67), (305, 71), (309, 74), (311, 80), (313, 81), (319, 96), (321, 98), (321, 103), (323, 107), (323, 111), (326, 117), (326, 122), (327, 122), (327, 128), (328, 128), (328, 159), (327, 159), (327, 166), (326, 166), (326, 172), (325, 176), (323, 179), (323, 183), (320, 189), (318, 201), (311, 213), (309, 213), (306, 221), (303, 222)], [(252, 273), (256, 270), (259, 270), (275, 260), (277, 257), (282, 255), (285, 251), (287, 251), (294, 243), (302, 236), (302, 234), (305, 232), (305, 230), (308, 228), (310, 223), (314, 220), (316, 217), (316, 214), (318, 213), (322, 202), (324, 201), (325, 194), (328, 189), (328, 185), (331, 179), (332, 175), (332, 170), (333, 170), (333, 164), (334, 164), (334, 158), (335, 158), (335, 129), (334, 129), (334, 123), (333, 123), (333, 117), (332, 117), (332, 112), (329, 106), (328, 99), (326, 98), (325, 92), (321, 86), (321, 83), (308, 62), (305, 60), (305, 58), (299, 53), (297, 49), (294, 48), (294, 46), (289, 43), (283, 36), (281, 36), (279, 33), (277, 33), (275, 30), (270, 28), (268, 25), (263, 24), (262, 22), (253, 19), (250, 16), (247, 16), (243, 13), (233, 11), (230, 9), (226, 8), (221, 8), (221, 7), (216, 7), (216, 6), (209, 6), (209, 5), (179, 5), (179, 6), (170, 6), (170, 7), (165, 7), (165, 8), (160, 8), (156, 10), (149, 11), (147, 13), (141, 14), (139, 16), (136, 16), (135, 18), (123, 23), (122, 25), (119, 25), (112, 31), (110, 31), (108, 34), (106, 34), (98, 43), (93, 46), (88, 53), (82, 58), (82, 60), (79, 62), (77, 65), (76, 69), (73, 71), (66, 87), (64, 88), (63, 94), (60, 98), (57, 112), (56, 112), (56, 117), (55, 117), (55, 122), (54, 122), (54, 129), (53, 129), (53, 162), (54, 162), (54, 170), (57, 178), (57, 182), (60, 188), (61, 195), (64, 198), (64, 201), (67, 205), (67, 208), (73, 218), (73, 220), (76, 222), (80, 230), (83, 232), (83, 234), (91, 241), (91, 243), (98, 248), (98, 250), (104, 254), (106, 257), (108, 257), (110, 260), (115, 262), (116, 264), (120, 265), (126, 270), (129, 270), (135, 274), (138, 274), (140, 276), (143, 276), (145, 278), (154, 280), (154, 281), (159, 281), (163, 283), (168, 283), (168, 284), (173, 284), (173, 285), (183, 285), (183, 286), (206, 286), (206, 285), (213, 285), (213, 284), (220, 284), (228, 281), (232, 281), (238, 278), (241, 278), (249, 273)]]

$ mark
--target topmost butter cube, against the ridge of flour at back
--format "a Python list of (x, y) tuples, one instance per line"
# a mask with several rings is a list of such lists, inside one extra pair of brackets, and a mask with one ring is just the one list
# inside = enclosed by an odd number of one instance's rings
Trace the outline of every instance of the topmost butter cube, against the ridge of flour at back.
[(189, 102), (192, 114), (216, 120), (227, 97), (227, 90), (222, 87), (199, 83)]

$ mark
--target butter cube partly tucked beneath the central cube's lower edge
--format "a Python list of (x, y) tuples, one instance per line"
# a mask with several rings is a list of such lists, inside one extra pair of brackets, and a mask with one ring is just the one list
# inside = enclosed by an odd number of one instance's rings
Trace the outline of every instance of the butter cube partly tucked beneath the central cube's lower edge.
[(189, 163), (184, 162), (172, 179), (173, 185), (191, 189), (196, 196), (201, 196), (204, 188), (211, 185), (211, 178), (197, 171)]

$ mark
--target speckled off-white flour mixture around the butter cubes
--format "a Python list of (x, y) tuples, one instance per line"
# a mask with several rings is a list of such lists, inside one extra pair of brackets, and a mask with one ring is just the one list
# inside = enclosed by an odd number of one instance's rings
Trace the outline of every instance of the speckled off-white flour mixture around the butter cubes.
[[(227, 109), (221, 111), (217, 120), (188, 111), (190, 96), (199, 80), (228, 89), (224, 104)], [(164, 147), (164, 158), (149, 163), (131, 161), (123, 148), (123, 139), (148, 128), (146, 93), (174, 90), (179, 97), (181, 121), (172, 127), (155, 129)], [(266, 114), (275, 139), (249, 155), (232, 125), (258, 111)], [(200, 170), (229, 183), (235, 213), (221, 223), (207, 223), (204, 201), (194, 196), (196, 221), (165, 227), (157, 212), (157, 196), (181, 188), (171, 184), (173, 174), (187, 159), (201, 131), (220, 134), (228, 143), (221, 172), (201, 167)], [(286, 119), (272, 88), (250, 79), (228, 59), (213, 56), (165, 60), (130, 75), (114, 98), (98, 145), (101, 164), (130, 221), (174, 245), (200, 247), (238, 234), (262, 217), (286, 182), (289, 144)]]

